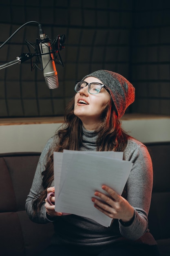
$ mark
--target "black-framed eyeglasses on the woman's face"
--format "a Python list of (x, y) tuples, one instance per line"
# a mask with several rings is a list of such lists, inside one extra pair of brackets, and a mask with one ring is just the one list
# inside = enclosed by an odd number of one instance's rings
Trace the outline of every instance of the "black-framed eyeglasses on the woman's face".
[(87, 83), (85, 81), (77, 81), (75, 82), (75, 92), (79, 92), (81, 89), (85, 88), (88, 85), (88, 92), (90, 94), (97, 94), (101, 91), (101, 89), (104, 87), (108, 93), (110, 94), (109, 90), (106, 88), (106, 86), (102, 83)]

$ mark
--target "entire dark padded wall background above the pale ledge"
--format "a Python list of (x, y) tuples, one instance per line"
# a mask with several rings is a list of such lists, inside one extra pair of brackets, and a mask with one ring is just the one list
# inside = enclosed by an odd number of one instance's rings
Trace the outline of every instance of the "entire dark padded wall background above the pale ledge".
[[(2, 1), (1, 1), (2, 2)], [(170, 115), (170, 1), (5, 0), (0, 3), (0, 45), (35, 20), (52, 40), (66, 35), (56, 65), (59, 88), (50, 90), (30, 61), (0, 70), (0, 117), (63, 115), (75, 81), (99, 69), (125, 76), (136, 89), (126, 113)], [(29, 24), (0, 49), (0, 65), (28, 52), (38, 25)], [(31, 50), (32, 52), (32, 50)]]

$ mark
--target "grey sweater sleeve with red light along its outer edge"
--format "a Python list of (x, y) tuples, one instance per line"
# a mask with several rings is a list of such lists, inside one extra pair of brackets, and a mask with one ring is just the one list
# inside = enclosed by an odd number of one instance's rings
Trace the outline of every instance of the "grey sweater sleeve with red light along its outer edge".
[(119, 222), (121, 235), (137, 240), (148, 231), (148, 212), (152, 195), (153, 171), (150, 154), (143, 144), (130, 141), (124, 158), (133, 163), (127, 181), (126, 200), (135, 209), (135, 218), (129, 226)]

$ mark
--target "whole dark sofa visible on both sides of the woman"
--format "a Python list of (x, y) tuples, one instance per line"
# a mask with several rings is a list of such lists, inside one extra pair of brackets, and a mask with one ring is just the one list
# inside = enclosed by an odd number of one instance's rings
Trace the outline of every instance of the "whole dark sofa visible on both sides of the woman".
[[(149, 228), (161, 256), (170, 256), (170, 142), (147, 144), (154, 186)], [(49, 244), (52, 223), (31, 222), (25, 211), (40, 153), (0, 154), (0, 255), (34, 256)]]

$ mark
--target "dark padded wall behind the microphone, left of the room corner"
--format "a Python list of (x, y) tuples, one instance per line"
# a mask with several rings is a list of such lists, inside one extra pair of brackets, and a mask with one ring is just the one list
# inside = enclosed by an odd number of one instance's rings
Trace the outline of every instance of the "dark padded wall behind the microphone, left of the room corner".
[[(128, 76), (132, 0), (6, 1), (0, 9), (0, 44), (30, 20), (40, 22), (51, 39), (66, 35), (65, 66), (57, 65), (58, 89), (49, 90), (42, 72), (31, 72), (29, 61), (0, 70), (1, 117), (63, 115), (75, 81), (86, 74), (108, 69)], [(20, 29), (0, 49), (0, 64), (27, 52), (24, 40), (35, 43), (37, 37), (36, 24)]]

